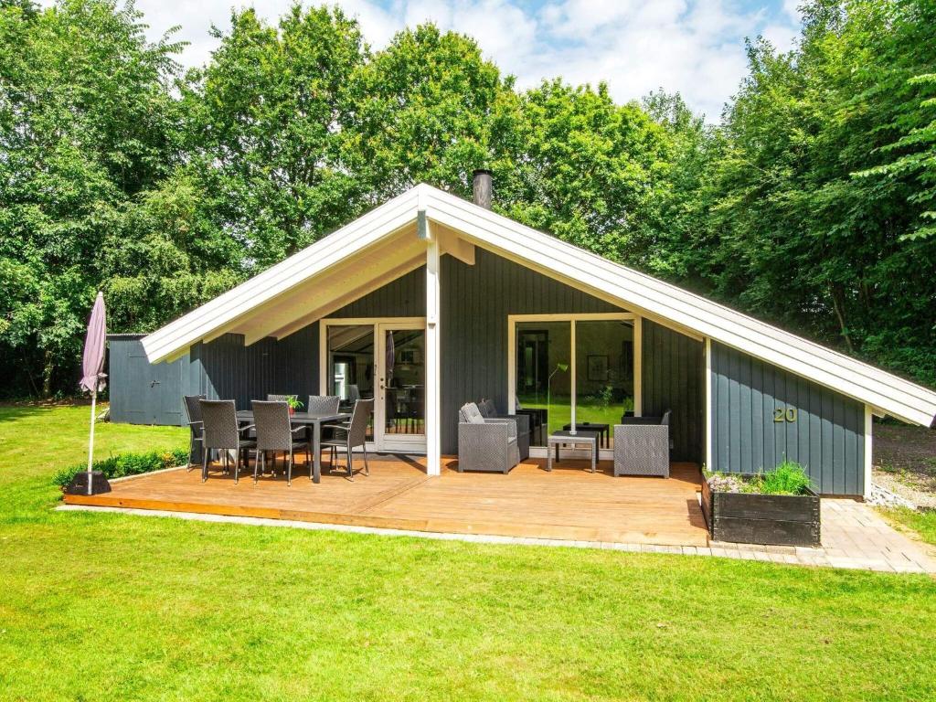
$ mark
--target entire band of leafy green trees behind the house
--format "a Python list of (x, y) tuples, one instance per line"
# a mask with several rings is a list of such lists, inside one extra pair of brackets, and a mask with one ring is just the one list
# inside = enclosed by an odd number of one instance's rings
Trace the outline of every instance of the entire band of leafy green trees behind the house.
[(665, 90), (519, 91), (432, 24), (252, 9), (182, 75), (132, 4), (0, 0), (0, 367), (72, 392), (97, 289), (147, 331), (414, 183), (936, 385), (936, 5), (812, 0), (721, 124)]

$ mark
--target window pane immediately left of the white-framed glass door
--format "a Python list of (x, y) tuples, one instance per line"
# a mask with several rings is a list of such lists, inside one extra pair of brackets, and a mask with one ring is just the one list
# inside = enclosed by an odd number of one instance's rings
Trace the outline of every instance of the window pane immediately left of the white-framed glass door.
[[(342, 399), (349, 410), (358, 399), (373, 399), (373, 324), (329, 325), (329, 395)], [(367, 429), (373, 441), (373, 428)]]

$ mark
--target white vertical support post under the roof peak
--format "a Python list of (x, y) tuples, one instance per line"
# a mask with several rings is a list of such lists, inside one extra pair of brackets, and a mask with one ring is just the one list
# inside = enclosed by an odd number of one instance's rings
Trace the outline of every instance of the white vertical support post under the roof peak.
[(442, 355), (439, 329), (439, 241), (431, 236), (426, 248), (426, 473), (442, 472)]

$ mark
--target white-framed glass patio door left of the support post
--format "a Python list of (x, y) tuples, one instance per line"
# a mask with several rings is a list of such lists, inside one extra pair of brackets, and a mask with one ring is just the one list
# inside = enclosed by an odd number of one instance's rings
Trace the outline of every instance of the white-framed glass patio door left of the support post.
[(426, 329), (423, 322), (375, 325), (378, 451), (426, 450)]

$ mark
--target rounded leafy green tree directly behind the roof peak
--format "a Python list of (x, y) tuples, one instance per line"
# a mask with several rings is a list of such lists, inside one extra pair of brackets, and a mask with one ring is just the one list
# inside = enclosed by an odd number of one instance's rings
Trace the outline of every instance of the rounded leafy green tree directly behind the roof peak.
[(346, 130), (371, 204), (417, 183), (468, 195), (494, 168), (517, 120), (512, 78), (475, 41), (433, 24), (399, 33), (356, 73)]

